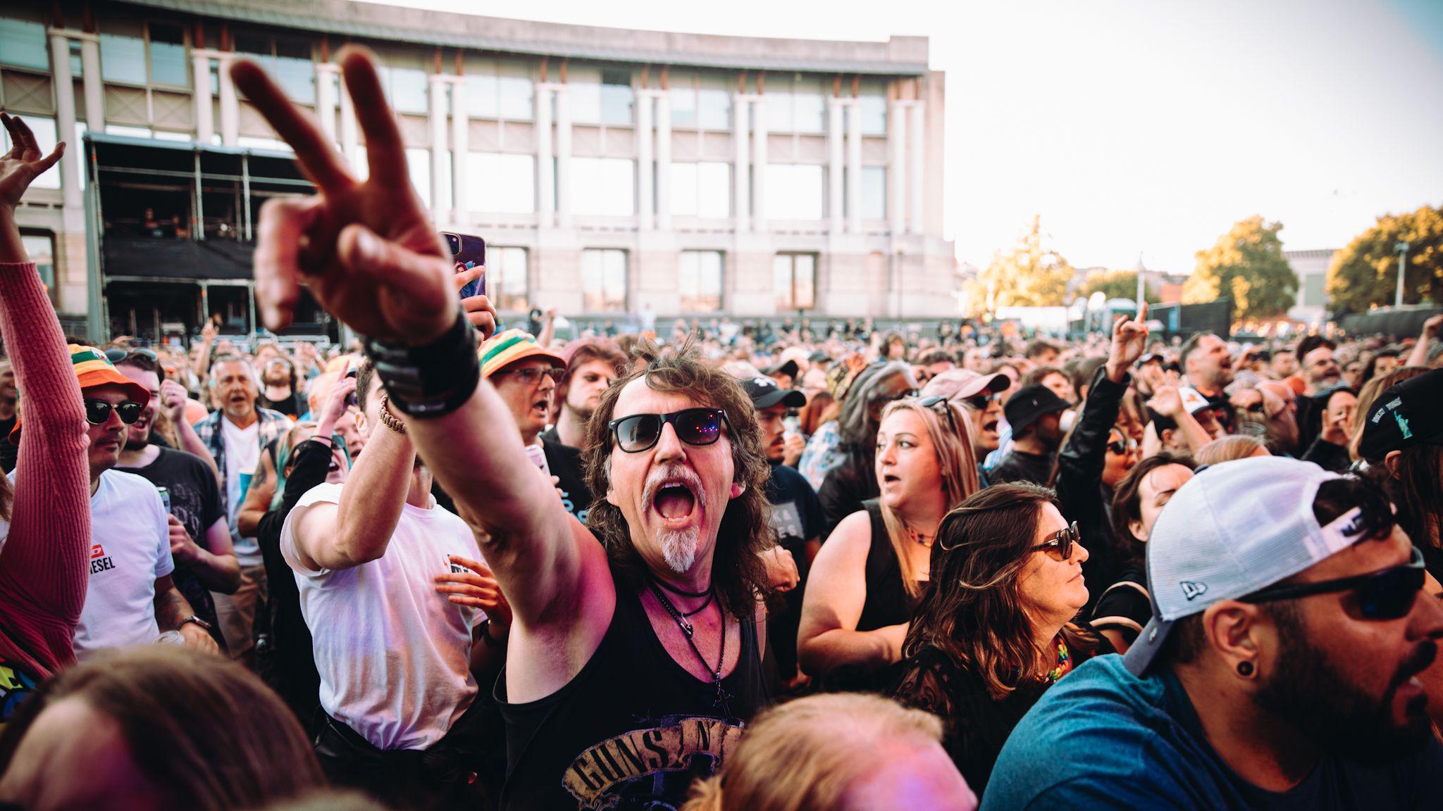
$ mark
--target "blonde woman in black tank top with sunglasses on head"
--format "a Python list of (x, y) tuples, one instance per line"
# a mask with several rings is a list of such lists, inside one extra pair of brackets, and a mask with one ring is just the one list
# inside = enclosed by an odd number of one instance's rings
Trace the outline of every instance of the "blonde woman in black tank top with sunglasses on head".
[(807, 582), (797, 652), (828, 690), (880, 690), (902, 654), (947, 511), (977, 492), (967, 417), (945, 400), (902, 400), (877, 430), (882, 494), (823, 545)]

